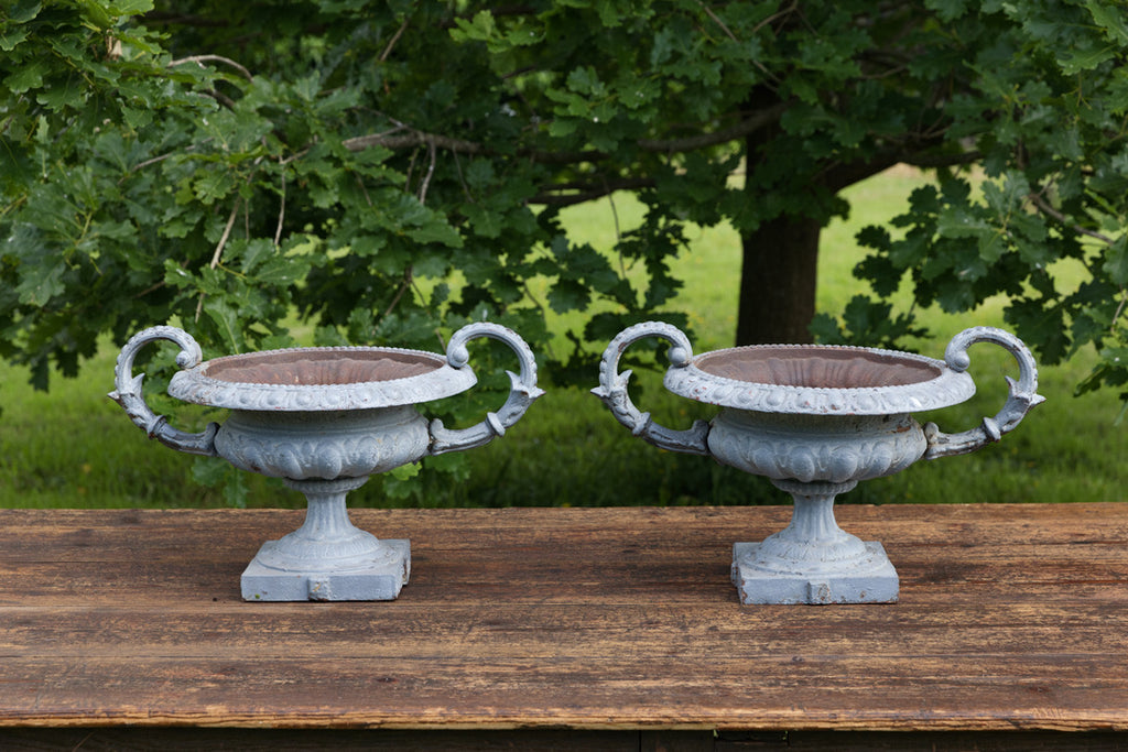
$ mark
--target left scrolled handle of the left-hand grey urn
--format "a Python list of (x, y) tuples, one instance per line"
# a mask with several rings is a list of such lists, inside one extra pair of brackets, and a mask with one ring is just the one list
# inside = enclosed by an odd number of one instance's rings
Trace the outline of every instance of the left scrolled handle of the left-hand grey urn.
[(125, 408), (130, 419), (143, 428), (150, 439), (156, 439), (166, 446), (170, 446), (179, 452), (188, 454), (203, 454), (204, 457), (215, 457), (215, 432), (219, 425), (209, 423), (201, 433), (185, 433), (168, 425), (164, 415), (155, 414), (144, 401), (141, 392), (143, 373), (133, 375), (133, 359), (138, 352), (158, 339), (168, 339), (180, 346), (180, 353), (176, 356), (176, 364), (182, 369), (191, 369), (200, 364), (203, 359), (200, 345), (187, 331), (168, 326), (150, 327), (138, 334), (125, 343), (122, 352), (117, 355), (117, 364), (114, 366), (114, 386), (116, 389), (109, 392), (109, 398)]

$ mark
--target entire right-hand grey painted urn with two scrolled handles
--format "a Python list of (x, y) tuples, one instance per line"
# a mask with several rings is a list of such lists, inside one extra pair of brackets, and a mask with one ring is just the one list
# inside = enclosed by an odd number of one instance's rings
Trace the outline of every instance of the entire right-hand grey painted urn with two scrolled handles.
[[(717, 405), (710, 423), (672, 431), (641, 413), (627, 393), (624, 351), (644, 337), (670, 343), (663, 383), (676, 395)], [(995, 417), (948, 434), (913, 413), (962, 402), (976, 386), (968, 348), (1001, 345), (1019, 363)], [(676, 452), (712, 455), (768, 477), (794, 498), (791, 524), (761, 542), (733, 546), (732, 580), (742, 603), (889, 603), (900, 583), (884, 548), (835, 521), (834, 499), (858, 481), (892, 475), (919, 459), (971, 452), (998, 441), (1042, 401), (1025, 345), (1001, 329), (975, 327), (949, 343), (943, 361), (866, 347), (763, 345), (695, 356), (673, 326), (645, 322), (608, 345), (596, 393), (638, 436)]]

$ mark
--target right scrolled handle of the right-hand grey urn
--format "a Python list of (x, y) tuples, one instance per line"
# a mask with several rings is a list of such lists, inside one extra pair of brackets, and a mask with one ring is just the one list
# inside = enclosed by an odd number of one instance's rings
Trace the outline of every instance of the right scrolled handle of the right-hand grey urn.
[(979, 342), (994, 343), (1014, 355), (1014, 360), (1019, 362), (1019, 380), (1006, 377), (1010, 393), (1003, 404), (1003, 409), (993, 418), (985, 417), (977, 428), (949, 434), (941, 431), (935, 423), (926, 424), (924, 431), (928, 449), (924, 453), (925, 459), (966, 454), (996, 442), (1003, 434), (1013, 431), (1030, 408), (1046, 400), (1038, 393), (1038, 366), (1034, 364), (1034, 356), (1021, 339), (1008, 331), (993, 327), (964, 329), (948, 343), (944, 362), (953, 371), (961, 373), (967, 371), (971, 364), (968, 347)]

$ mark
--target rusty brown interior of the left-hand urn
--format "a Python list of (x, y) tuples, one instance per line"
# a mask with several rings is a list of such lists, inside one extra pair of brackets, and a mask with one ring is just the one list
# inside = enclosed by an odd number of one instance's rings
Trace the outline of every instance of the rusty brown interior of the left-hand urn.
[(390, 351), (284, 351), (231, 355), (204, 364), (204, 375), (232, 383), (340, 386), (391, 381), (442, 368), (426, 353)]

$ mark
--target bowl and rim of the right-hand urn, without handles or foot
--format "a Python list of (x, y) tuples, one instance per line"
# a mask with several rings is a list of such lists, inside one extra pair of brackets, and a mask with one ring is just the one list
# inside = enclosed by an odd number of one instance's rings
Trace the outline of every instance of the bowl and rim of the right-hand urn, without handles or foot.
[(899, 472), (928, 448), (910, 413), (975, 395), (937, 360), (866, 347), (764, 345), (704, 353), (666, 387), (719, 405), (707, 436), (719, 462), (773, 480), (835, 483)]

